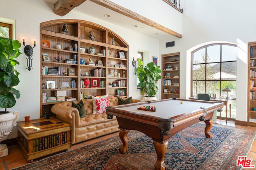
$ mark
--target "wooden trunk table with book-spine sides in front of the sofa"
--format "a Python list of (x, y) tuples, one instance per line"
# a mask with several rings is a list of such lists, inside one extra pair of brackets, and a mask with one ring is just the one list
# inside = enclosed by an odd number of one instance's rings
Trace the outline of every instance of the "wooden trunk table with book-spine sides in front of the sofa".
[(56, 118), (17, 122), (18, 147), (28, 162), (62, 150), (68, 150), (70, 125)]

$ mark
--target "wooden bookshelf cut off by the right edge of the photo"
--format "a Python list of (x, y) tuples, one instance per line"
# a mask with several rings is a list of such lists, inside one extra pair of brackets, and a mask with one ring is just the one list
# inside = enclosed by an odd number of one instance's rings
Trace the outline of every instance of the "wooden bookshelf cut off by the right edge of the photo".
[(256, 127), (256, 42), (248, 43), (248, 126)]

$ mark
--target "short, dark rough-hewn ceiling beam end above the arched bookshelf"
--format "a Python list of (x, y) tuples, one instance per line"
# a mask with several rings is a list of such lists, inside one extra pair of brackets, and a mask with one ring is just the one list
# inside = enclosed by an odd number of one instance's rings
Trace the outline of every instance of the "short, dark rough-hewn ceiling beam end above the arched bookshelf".
[(68, 14), (73, 8), (81, 5), (86, 0), (58, 0), (54, 4), (53, 12), (58, 16), (64, 16)]

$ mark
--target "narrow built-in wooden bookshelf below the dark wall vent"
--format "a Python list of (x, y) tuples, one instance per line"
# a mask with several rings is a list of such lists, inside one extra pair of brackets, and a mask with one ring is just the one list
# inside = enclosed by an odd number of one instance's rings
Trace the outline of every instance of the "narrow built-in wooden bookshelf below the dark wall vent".
[(180, 53), (162, 55), (162, 99), (180, 98)]

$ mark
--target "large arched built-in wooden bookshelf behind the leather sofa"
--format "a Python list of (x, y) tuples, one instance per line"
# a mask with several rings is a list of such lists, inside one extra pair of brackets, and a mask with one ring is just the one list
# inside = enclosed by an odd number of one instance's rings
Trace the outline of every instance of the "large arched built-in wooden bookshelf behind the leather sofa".
[[(62, 30), (64, 24), (68, 32)], [(93, 39), (89, 37), (90, 31)], [(56, 96), (59, 90), (66, 90), (66, 98), (76, 100), (91, 95), (114, 96), (118, 90), (128, 95), (129, 46), (116, 33), (89, 21), (52, 20), (40, 23), (40, 35), (40, 117), (52, 113), (51, 107), (56, 101), (46, 102), (46, 96)], [(89, 53), (90, 47), (94, 48), (94, 54)], [(87, 64), (90, 59), (95, 65)], [(57, 68), (58, 74), (48, 75), (47, 67), (48, 70)], [(92, 75), (92, 70), (98, 70), (98, 74)], [(114, 77), (115, 70), (118, 77)], [(86, 78), (90, 81), (88, 88), (83, 86)], [(96, 85), (92, 86), (92, 82)], [(117, 83), (116, 87), (110, 86), (113, 82)]]

